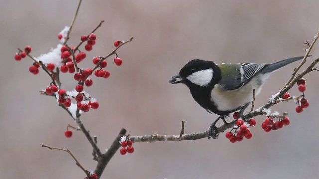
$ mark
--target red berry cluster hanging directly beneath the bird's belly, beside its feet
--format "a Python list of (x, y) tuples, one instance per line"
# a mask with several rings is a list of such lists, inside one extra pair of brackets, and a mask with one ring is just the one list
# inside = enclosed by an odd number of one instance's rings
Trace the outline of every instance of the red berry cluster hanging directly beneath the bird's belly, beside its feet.
[(244, 140), (244, 137), (246, 139), (250, 139), (253, 137), (253, 134), (250, 132), (249, 127), (250, 126), (255, 126), (256, 121), (255, 119), (249, 119), (248, 121), (244, 121), (242, 119), (238, 119), (238, 112), (235, 112), (233, 114), (233, 117), (237, 119), (236, 125), (237, 127), (234, 127), (232, 130), (235, 130), (234, 132), (229, 131), (226, 133), (226, 138), (229, 139), (230, 142), (235, 143), (235, 142), (240, 142)]

